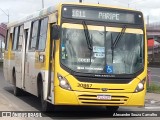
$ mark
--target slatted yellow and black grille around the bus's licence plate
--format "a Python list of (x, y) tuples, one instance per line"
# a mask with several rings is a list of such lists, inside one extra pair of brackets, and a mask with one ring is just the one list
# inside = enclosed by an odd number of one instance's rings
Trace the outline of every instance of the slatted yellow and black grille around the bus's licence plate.
[(79, 95), (79, 101), (82, 104), (98, 104), (98, 105), (123, 105), (127, 102), (127, 96), (116, 96), (113, 95), (111, 100), (99, 100), (97, 99), (97, 95)]

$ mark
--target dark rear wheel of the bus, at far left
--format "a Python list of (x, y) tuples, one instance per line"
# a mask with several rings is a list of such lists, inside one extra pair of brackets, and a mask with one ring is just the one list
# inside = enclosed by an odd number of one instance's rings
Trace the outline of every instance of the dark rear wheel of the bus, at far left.
[(20, 88), (16, 87), (16, 73), (15, 72), (13, 73), (13, 83), (14, 83), (14, 85), (13, 85), (13, 93), (14, 93), (14, 95), (15, 96), (22, 95), (22, 90)]

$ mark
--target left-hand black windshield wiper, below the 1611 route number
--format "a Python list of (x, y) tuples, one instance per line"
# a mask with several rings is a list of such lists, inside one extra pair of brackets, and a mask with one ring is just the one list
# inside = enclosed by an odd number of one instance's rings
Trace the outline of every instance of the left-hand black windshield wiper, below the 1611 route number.
[(83, 21), (83, 22), (82, 22), (82, 25), (83, 25), (83, 28), (84, 28), (84, 33), (85, 33), (85, 37), (86, 37), (88, 49), (89, 49), (89, 50), (92, 50), (92, 49), (93, 49), (92, 39), (91, 39), (91, 37), (90, 37), (87, 24), (86, 24), (85, 21)]

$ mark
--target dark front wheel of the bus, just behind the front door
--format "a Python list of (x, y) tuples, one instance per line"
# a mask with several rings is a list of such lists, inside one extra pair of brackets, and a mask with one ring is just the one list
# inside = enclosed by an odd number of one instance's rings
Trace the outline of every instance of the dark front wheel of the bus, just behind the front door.
[(41, 89), (41, 95), (40, 95), (40, 98), (41, 98), (41, 110), (43, 112), (53, 111), (54, 110), (54, 108), (53, 108), (54, 106), (52, 104), (50, 104), (49, 102), (47, 102), (46, 100), (44, 100), (42, 82), (40, 82), (39, 88)]

